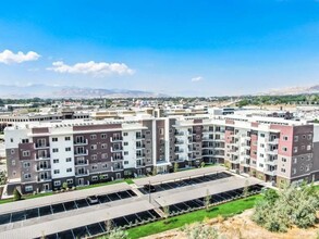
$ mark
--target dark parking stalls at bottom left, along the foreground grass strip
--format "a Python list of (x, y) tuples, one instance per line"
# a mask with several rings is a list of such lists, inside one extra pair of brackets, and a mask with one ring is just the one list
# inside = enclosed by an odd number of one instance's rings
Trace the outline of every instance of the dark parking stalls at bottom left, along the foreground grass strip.
[[(155, 210), (148, 210), (139, 213), (130, 214), (126, 216), (116, 217), (110, 221), (110, 228), (125, 228), (132, 224), (139, 224), (142, 222), (154, 222), (160, 216)], [(46, 236), (46, 239), (77, 239), (93, 237), (108, 231), (106, 222), (90, 224), (84, 227), (77, 227), (70, 230), (64, 230), (58, 234)], [(40, 238), (38, 238), (40, 239)]]

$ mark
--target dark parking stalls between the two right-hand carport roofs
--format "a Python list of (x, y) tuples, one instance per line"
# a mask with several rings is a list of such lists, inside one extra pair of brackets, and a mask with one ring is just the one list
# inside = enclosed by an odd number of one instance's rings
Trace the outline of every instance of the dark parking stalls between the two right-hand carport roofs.
[[(226, 177), (231, 177), (231, 174), (221, 172), (221, 173), (213, 173), (213, 174), (208, 174), (208, 175), (203, 175), (199, 177), (191, 177), (191, 178), (185, 178), (185, 179), (177, 179), (175, 181), (168, 181), (168, 183), (162, 183), (159, 185), (152, 185), (154, 186), (154, 192), (159, 192), (159, 191), (165, 191), (165, 190), (171, 190), (171, 189), (176, 189), (181, 187), (186, 187), (191, 185), (197, 185), (197, 184), (203, 184), (203, 183), (208, 183), (208, 181), (213, 181)], [(146, 185), (148, 186), (148, 185)], [(149, 191), (145, 188), (138, 188), (139, 191), (144, 194), (149, 193)]]

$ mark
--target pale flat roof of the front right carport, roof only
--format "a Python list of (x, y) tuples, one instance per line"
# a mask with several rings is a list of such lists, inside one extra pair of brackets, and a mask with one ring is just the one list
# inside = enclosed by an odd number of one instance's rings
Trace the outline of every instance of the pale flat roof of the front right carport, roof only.
[(220, 192), (243, 188), (246, 186), (246, 181), (248, 181), (248, 186), (262, 183), (261, 180), (254, 177), (248, 177), (248, 178), (231, 177), (231, 178), (214, 180), (211, 185), (206, 187), (200, 187), (195, 189), (189, 188), (187, 191), (171, 193), (169, 196), (163, 196), (155, 200), (161, 206), (172, 205), (180, 202), (185, 202), (185, 201), (206, 197), (207, 191), (209, 192), (209, 194), (217, 194)]

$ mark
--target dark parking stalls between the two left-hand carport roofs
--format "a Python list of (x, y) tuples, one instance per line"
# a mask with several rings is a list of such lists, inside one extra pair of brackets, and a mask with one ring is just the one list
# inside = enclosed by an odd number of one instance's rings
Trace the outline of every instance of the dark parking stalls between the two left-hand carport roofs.
[[(121, 199), (132, 198), (135, 196), (136, 196), (135, 192), (133, 192), (132, 190), (125, 190), (125, 191), (118, 191), (118, 192), (113, 192), (109, 194), (97, 196), (97, 198), (98, 198), (98, 203), (108, 203), (108, 202), (118, 201)], [(62, 213), (66, 211), (82, 209), (85, 206), (90, 206), (90, 205), (91, 204), (89, 203), (89, 201), (86, 198), (84, 198), (84, 199), (68, 201), (63, 203), (57, 203), (57, 204), (45, 205), (45, 206), (28, 209), (28, 210), (13, 212), (13, 213), (7, 213), (7, 214), (0, 215), (0, 225), (15, 223), (19, 221), (24, 221), (24, 219), (30, 219), (30, 218), (40, 217), (40, 216), (47, 216), (47, 215), (57, 214), (57, 213)]]

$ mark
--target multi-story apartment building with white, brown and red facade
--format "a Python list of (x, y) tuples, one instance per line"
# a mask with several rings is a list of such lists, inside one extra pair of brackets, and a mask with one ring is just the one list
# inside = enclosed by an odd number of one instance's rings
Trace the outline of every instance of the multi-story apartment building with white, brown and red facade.
[(175, 163), (224, 163), (275, 184), (319, 179), (319, 125), (278, 117), (145, 114), (20, 123), (4, 133), (9, 193), (168, 173)]

